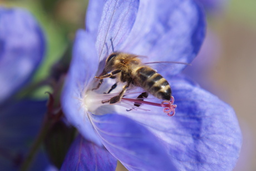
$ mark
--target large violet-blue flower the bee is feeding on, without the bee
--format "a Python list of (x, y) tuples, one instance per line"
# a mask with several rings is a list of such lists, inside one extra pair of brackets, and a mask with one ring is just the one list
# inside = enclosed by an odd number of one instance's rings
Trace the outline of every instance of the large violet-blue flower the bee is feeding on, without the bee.
[[(104, 94), (113, 79), (92, 90), (112, 52), (110, 39), (115, 51), (146, 56), (144, 62), (190, 63), (204, 34), (204, 14), (194, 1), (90, 1), (62, 96), (67, 119), (84, 139), (73, 143), (62, 170), (113, 170), (116, 160), (129, 170), (232, 170), (242, 142), (235, 113), (180, 75), (184, 65), (159, 69), (178, 105), (174, 117), (146, 104), (128, 112), (134, 105), (126, 100), (102, 104), (120, 92), (121, 85)], [(136, 98), (141, 92), (133, 88), (125, 95)]]

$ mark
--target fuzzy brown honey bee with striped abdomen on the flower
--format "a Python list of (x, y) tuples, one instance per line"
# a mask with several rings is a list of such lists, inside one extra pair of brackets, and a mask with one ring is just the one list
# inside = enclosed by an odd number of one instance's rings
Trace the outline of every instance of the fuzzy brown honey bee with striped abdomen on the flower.
[[(99, 77), (95, 76), (95, 78), (100, 79), (97, 88), (100, 87), (104, 78), (116, 79), (116, 83), (111, 87), (108, 93), (116, 88), (117, 83), (126, 83), (119, 95), (109, 100), (102, 101), (102, 103), (115, 104), (120, 102), (127, 88), (132, 85), (145, 90), (145, 92), (141, 93), (137, 98), (146, 98), (148, 93), (150, 93), (159, 99), (168, 101), (171, 99), (171, 87), (168, 81), (154, 69), (142, 63), (139, 56), (134, 54), (121, 52), (111, 53), (106, 59), (104, 71)], [(140, 104), (137, 104), (137, 106), (138, 105)]]

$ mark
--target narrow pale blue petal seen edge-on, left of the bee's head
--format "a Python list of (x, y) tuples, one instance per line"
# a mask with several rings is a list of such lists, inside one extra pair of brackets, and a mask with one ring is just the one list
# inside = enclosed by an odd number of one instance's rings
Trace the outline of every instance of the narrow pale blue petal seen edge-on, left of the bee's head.
[(68, 121), (86, 139), (101, 144), (84, 110), (82, 98), (87, 86), (96, 75), (98, 58), (93, 37), (85, 31), (78, 31), (73, 47), (73, 59), (62, 94), (62, 108)]

